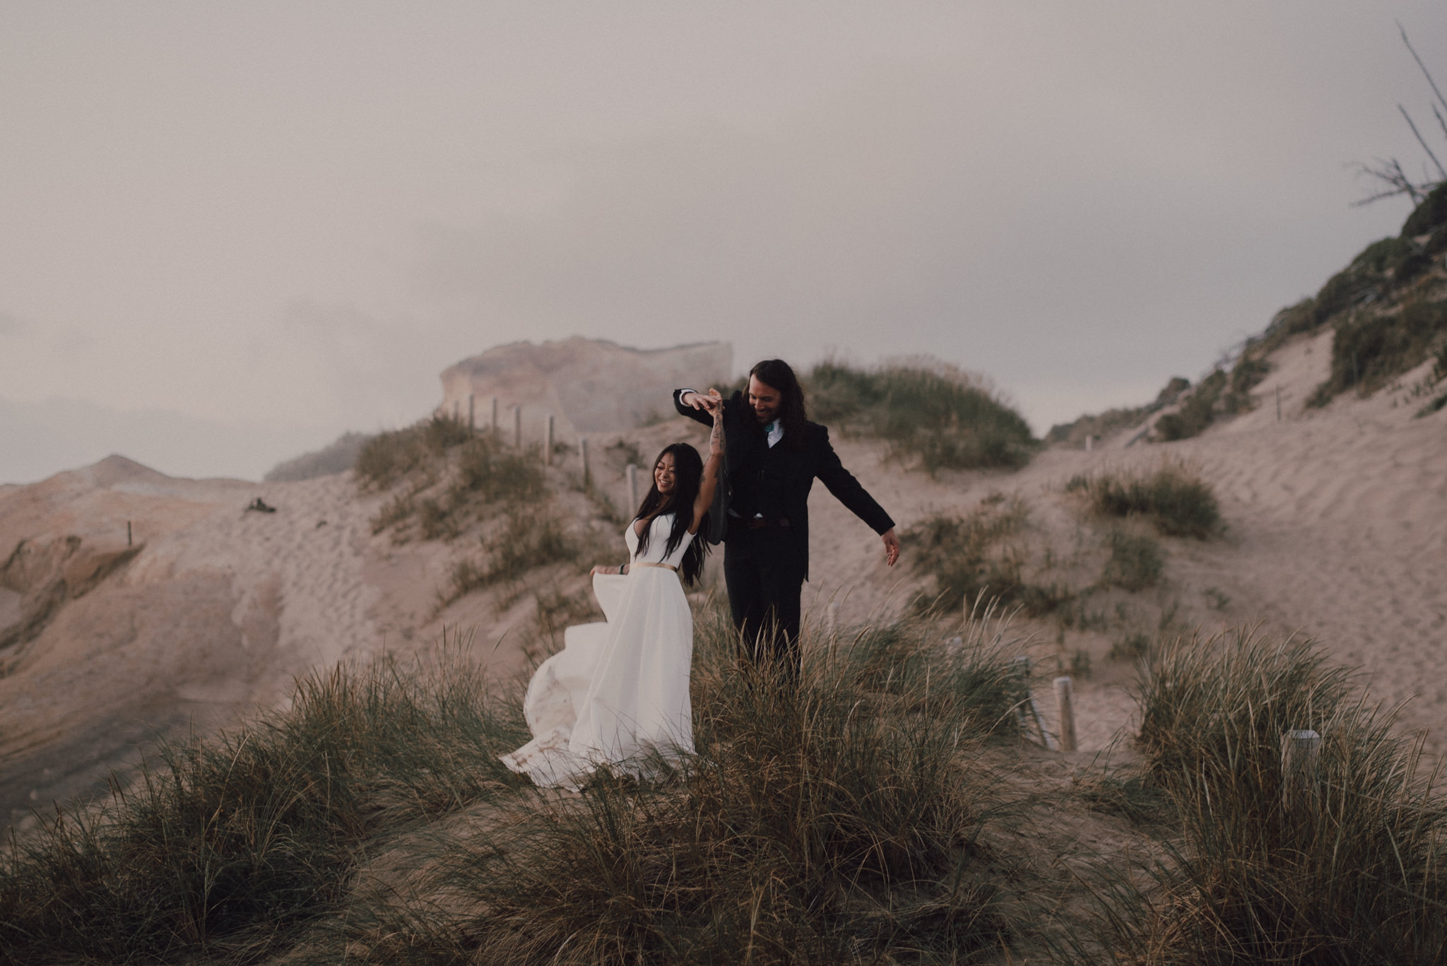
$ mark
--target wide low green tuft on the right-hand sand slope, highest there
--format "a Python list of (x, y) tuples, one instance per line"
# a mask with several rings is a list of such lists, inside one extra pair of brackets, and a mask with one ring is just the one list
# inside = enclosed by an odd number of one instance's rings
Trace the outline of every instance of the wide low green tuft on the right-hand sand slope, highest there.
[(1221, 526), (1215, 491), (1185, 463), (1163, 463), (1145, 475), (1077, 475), (1065, 485), (1103, 517), (1142, 514), (1166, 536), (1205, 539)]

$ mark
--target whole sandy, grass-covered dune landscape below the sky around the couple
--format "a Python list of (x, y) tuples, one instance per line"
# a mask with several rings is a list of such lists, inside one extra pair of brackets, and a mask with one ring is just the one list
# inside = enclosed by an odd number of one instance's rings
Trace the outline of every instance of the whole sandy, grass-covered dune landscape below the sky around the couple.
[[(1440, 230), (1043, 443), (942, 364), (810, 371), (903, 560), (816, 488), (790, 691), (738, 672), (715, 555), (697, 753), (642, 784), (541, 792), (496, 756), (530, 669), (596, 618), (627, 466), (702, 443), (687, 420), (586, 468), (438, 413), (341, 475), (0, 492), (0, 962), (1443, 962), (1447, 271), (1404, 271)], [(158, 658), (192, 671), (107, 704)], [(194, 736), (124, 733), (42, 785), (80, 757), (65, 723), (182, 689)]]

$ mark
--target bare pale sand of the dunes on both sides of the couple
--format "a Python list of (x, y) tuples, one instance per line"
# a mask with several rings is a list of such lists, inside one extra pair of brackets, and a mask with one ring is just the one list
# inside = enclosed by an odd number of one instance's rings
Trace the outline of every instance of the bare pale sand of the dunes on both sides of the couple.
[[(1205, 543), (1165, 540), (1163, 588), (1114, 592), (1108, 626), (1090, 633), (1062, 631), (1049, 618), (1022, 623), (1033, 634), (1024, 650), (1045, 678), (1058, 656), (1084, 650), (1092, 658), (1094, 673), (1077, 682), (1084, 749), (1104, 749), (1133, 708), (1129, 668), (1106, 659), (1113, 640), (1169, 611), (1178, 627), (1210, 631), (1263, 621), (1270, 633), (1301, 629), (1318, 637), (1341, 660), (1360, 665), (1379, 698), (1409, 701), (1404, 724), (1431, 728), (1430, 747), (1441, 752), (1447, 411), (1412, 419), (1418, 401), (1393, 407), (1420, 374), (1396, 391), (1305, 410), (1305, 397), (1325, 374), (1328, 339), (1285, 346), (1256, 391), (1262, 406), (1192, 440), (1127, 446), (1127, 433), (1091, 453), (1046, 450), (1016, 474), (938, 479), (884, 459), (874, 442), (836, 439), (836, 446), (901, 527), (936, 511), (968, 511), (991, 492), (1017, 494), (1030, 505), (1030, 540), (1074, 553), (1077, 582), (1090, 579), (1100, 529), (1065, 495), (1071, 475), (1178, 456), (1215, 485), (1227, 534)], [(629, 437), (651, 459), (671, 439), (702, 443), (702, 429), (674, 420)], [(554, 505), (587, 516), (586, 500), (567, 492), (573, 462), (553, 471), (560, 491)], [(622, 505), (622, 476), (598, 472)], [(278, 513), (243, 513), (256, 495)], [(266, 485), (182, 481), (120, 458), (0, 490), (0, 550), (25, 540), (35, 555), (0, 589), (0, 629), (23, 617), (58, 575), (72, 578), (39, 636), (0, 653), (7, 668), (0, 676), (0, 820), (20, 820), (32, 804), (94, 788), (109, 768), (133, 760), (137, 742), (149, 736), (213, 727), (285, 700), (292, 675), (349, 655), (423, 646), (447, 629), (470, 634), (495, 673), (524, 669), (532, 597), (489, 591), (438, 611), (437, 589), (453, 560), (476, 553), (475, 534), (398, 545), (370, 532), (381, 500), (359, 495), (350, 476)], [(810, 514), (813, 581), (805, 604), (812, 618), (833, 600), (846, 623), (890, 620), (909, 594), (928, 585), (907, 560), (887, 569), (878, 537), (822, 487)], [(100, 572), (96, 560), (124, 549), (126, 520), (143, 547), (87, 584), (81, 576)], [(80, 537), (78, 549), (68, 549), (67, 537)], [(716, 575), (713, 563), (715, 584)], [(530, 582), (564, 594), (586, 587), (582, 574), (563, 566)], [(1051, 702), (1042, 704), (1049, 711)]]

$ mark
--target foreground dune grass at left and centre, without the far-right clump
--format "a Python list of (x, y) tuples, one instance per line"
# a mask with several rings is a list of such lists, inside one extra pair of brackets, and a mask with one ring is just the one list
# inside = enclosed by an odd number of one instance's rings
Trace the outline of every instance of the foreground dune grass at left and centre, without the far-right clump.
[(502, 768), (519, 686), (456, 642), (310, 678), (13, 843), (0, 960), (968, 962), (1011, 928), (974, 763), (1016, 740), (1017, 681), (990, 626), (933, 630), (815, 639), (794, 689), (737, 673), (705, 605), (697, 753), (583, 795)]

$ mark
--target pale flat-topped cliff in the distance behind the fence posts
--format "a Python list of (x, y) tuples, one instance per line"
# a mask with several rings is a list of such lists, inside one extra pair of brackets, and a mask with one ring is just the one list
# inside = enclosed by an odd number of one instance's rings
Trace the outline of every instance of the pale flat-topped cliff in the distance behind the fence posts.
[(722, 385), (734, 378), (734, 346), (697, 342), (670, 349), (629, 349), (615, 342), (574, 336), (561, 342), (514, 342), (463, 359), (441, 374), (441, 413), (476, 421), (492, 419), (511, 429), (512, 407), (522, 407), (524, 433), (551, 413), (559, 437), (619, 433), (671, 414), (670, 392), (680, 385)]

